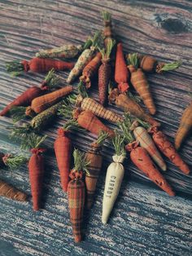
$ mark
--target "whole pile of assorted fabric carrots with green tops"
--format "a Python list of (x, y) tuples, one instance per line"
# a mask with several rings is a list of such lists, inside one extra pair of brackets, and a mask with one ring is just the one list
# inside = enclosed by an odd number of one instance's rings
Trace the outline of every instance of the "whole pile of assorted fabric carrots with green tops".
[[(83, 45), (64, 45), (37, 52), (30, 60), (7, 63), (12, 75), (20, 73), (47, 73), (40, 86), (31, 86), (2, 109), (0, 116), (11, 117), (16, 123), (11, 127), (11, 138), (18, 139), (31, 157), (0, 153), (0, 167), (20, 168), (28, 162), (33, 210), (41, 209), (44, 177), (46, 136), (42, 132), (51, 128), (56, 117), (63, 117), (63, 126), (57, 130), (54, 142), (60, 183), (68, 193), (68, 210), (75, 242), (83, 239), (84, 209), (94, 205), (98, 176), (103, 166), (103, 144), (107, 140), (114, 148), (111, 164), (107, 168), (103, 193), (102, 222), (106, 224), (120, 192), (124, 179), (124, 159), (128, 156), (137, 169), (145, 174), (169, 196), (175, 196), (172, 186), (164, 178), (167, 170), (162, 155), (172, 161), (183, 174), (190, 174), (190, 167), (181, 159), (177, 149), (192, 127), (192, 100), (181, 117), (175, 136), (175, 145), (160, 128), (155, 102), (147, 82), (146, 73), (164, 73), (175, 70), (180, 61), (165, 64), (149, 55), (129, 53), (124, 55), (123, 45), (113, 33), (111, 15), (102, 12), (103, 31), (97, 31)], [(70, 62), (74, 60), (76, 63)], [(64, 60), (63, 60), (64, 59)], [(65, 82), (56, 74), (70, 70)], [(98, 101), (89, 97), (89, 88), (98, 77)], [(77, 86), (72, 83), (79, 79)], [(63, 86), (65, 84), (65, 86)], [(139, 97), (133, 96), (135, 90)], [(140, 101), (146, 106), (142, 108)], [(107, 104), (116, 104), (124, 111), (120, 116), (109, 110)], [(116, 125), (116, 130), (106, 126), (102, 119)], [(72, 144), (72, 132), (88, 130), (98, 138), (88, 152), (81, 152)], [(73, 160), (73, 161), (72, 161)], [(71, 166), (73, 162), (73, 167)], [(104, 170), (103, 170), (104, 171)], [(28, 201), (28, 196), (0, 180), (0, 196), (16, 201)]]

